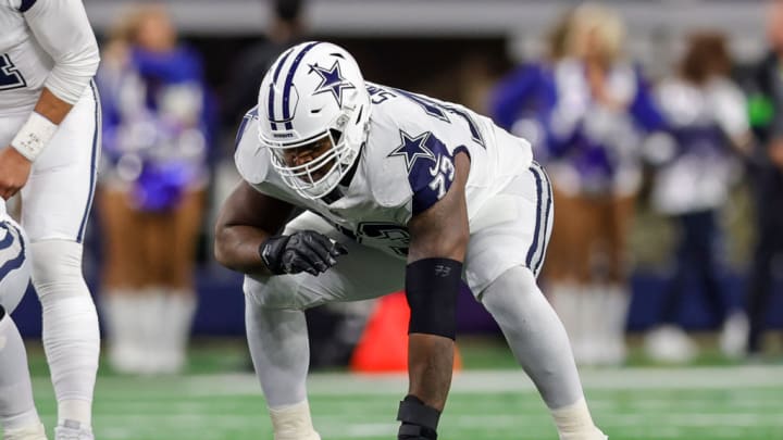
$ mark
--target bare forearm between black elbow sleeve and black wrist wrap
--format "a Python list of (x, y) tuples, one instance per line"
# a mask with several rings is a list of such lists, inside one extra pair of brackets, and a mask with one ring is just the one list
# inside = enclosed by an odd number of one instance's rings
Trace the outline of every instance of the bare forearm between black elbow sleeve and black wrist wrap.
[(408, 344), (409, 394), (438, 411), (446, 405), (453, 369), (453, 340), (411, 334)]

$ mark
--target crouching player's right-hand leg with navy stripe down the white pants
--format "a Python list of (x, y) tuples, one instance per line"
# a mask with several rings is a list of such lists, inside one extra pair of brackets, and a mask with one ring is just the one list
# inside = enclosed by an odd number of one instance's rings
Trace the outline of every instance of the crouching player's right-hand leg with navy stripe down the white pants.
[[(536, 385), (560, 439), (604, 440), (584, 401), (566, 329), (536, 285), (552, 226), (549, 179), (533, 163), (498, 200), (502, 203), (488, 201), (485, 209), (490, 212), (480, 216), (502, 221), (471, 236), (468, 282)], [(515, 215), (505, 215), (509, 210)]]

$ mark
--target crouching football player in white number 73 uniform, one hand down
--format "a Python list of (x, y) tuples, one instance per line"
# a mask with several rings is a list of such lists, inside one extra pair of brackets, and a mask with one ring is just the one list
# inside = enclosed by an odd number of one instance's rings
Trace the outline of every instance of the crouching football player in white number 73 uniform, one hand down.
[[(398, 439), (436, 439), (463, 278), (560, 439), (606, 439), (536, 286), (552, 206), (530, 143), (464, 106), (365, 83), (350, 53), (318, 41), (276, 60), (237, 141), (244, 180), (222, 208), (215, 254), (246, 274), (248, 341), (275, 440), (320, 439), (302, 311), (401, 288), (411, 319)], [(285, 224), (294, 206), (307, 211)]]

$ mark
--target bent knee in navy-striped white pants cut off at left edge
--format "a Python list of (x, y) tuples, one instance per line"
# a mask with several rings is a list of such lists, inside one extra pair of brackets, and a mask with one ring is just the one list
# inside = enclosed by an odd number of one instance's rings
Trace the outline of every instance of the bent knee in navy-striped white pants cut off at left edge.
[(0, 305), (5, 313), (16, 309), (29, 284), (29, 241), (20, 225), (5, 212), (0, 198)]

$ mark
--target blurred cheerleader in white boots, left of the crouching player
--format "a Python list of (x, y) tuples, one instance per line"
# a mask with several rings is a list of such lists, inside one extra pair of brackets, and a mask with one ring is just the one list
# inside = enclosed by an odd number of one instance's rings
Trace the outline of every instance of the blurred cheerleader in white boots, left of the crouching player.
[(103, 59), (98, 208), (109, 360), (119, 372), (175, 373), (196, 310), (195, 253), (208, 183), (202, 65), (177, 43), (160, 5), (123, 16)]

